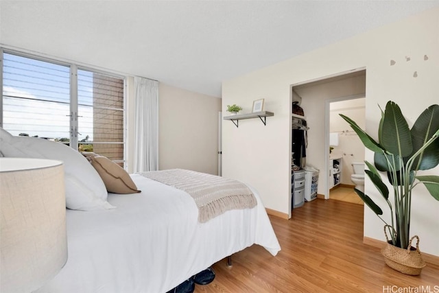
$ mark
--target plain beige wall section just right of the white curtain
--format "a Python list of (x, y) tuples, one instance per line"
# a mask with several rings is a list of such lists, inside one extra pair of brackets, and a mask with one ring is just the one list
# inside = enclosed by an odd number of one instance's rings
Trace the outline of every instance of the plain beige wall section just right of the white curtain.
[(158, 167), (218, 174), (221, 99), (158, 86)]

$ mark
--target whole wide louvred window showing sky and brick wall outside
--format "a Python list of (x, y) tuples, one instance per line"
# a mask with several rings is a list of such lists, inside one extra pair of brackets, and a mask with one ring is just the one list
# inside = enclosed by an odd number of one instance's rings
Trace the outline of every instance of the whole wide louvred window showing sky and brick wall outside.
[(123, 166), (124, 80), (32, 56), (2, 54), (1, 126)]

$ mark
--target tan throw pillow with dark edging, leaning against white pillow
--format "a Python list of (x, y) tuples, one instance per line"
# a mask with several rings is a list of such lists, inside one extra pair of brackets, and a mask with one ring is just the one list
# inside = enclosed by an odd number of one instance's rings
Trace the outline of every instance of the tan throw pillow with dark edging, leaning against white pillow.
[(105, 156), (87, 156), (91, 165), (95, 167), (99, 176), (104, 181), (108, 192), (113, 194), (135, 194), (141, 192), (132, 181), (130, 175), (117, 163)]

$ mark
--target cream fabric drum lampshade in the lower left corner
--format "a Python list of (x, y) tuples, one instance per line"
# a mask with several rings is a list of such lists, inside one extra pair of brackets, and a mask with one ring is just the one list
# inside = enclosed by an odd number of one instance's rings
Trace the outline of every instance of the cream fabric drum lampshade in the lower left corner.
[(0, 158), (0, 291), (32, 292), (67, 261), (64, 166)]

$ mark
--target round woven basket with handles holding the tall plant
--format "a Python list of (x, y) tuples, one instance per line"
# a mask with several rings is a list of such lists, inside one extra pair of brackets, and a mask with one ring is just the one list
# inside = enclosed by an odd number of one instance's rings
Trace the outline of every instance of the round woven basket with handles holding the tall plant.
[[(410, 238), (409, 246), (405, 249), (396, 247), (392, 244), (392, 241), (389, 241), (385, 227), (384, 233), (387, 244), (381, 250), (381, 254), (384, 256), (385, 264), (403, 274), (410, 274), (412, 276), (420, 274), (421, 270), (425, 267), (425, 261), (420, 254), (419, 237), (415, 235)], [(412, 247), (412, 241), (415, 238), (416, 248)]]

